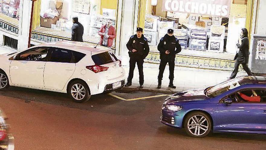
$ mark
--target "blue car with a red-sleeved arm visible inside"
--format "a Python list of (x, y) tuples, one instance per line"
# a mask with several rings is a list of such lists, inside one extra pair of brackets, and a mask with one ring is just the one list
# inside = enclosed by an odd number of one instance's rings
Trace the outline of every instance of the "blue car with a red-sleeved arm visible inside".
[(160, 121), (192, 137), (213, 132), (266, 134), (266, 77), (241, 76), (166, 98)]

